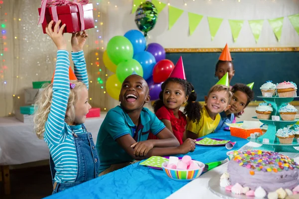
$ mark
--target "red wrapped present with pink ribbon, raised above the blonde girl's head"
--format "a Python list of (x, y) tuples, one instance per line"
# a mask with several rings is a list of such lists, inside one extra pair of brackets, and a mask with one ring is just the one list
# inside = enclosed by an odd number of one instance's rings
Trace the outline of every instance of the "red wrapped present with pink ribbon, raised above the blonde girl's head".
[[(66, 24), (63, 32), (74, 33), (93, 28), (93, 6), (88, 0), (42, 0), (41, 8), (38, 8), (39, 21), (42, 24), (43, 33), (46, 33), (46, 25), (53, 20), (61, 20), (61, 25)], [(52, 26), (54, 28), (54, 26)]]

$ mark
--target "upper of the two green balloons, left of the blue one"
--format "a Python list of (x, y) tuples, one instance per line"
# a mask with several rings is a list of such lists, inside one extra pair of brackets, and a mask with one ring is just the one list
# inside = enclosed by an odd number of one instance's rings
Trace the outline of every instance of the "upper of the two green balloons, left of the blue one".
[(107, 44), (107, 54), (110, 60), (118, 65), (122, 61), (132, 59), (132, 43), (124, 36), (115, 36)]

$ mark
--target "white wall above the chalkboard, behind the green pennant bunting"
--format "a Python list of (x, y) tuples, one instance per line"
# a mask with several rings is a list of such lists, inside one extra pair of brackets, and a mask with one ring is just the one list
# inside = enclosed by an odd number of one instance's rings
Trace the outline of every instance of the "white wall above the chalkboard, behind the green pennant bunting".
[[(124, 35), (137, 29), (131, 13), (132, 0), (103, 0), (105, 10), (105, 39), (107, 44), (115, 35)], [(161, 2), (168, 2), (161, 0)], [(157, 42), (164, 48), (223, 48), (229, 47), (298, 47), (299, 35), (285, 17), (281, 41), (278, 42), (267, 20), (256, 44), (247, 20), (272, 19), (299, 13), (299, 0), (170, 0), (170, 4), (185, 10), (171, 30), (168, 30), (168, 7), (160, 12), (157, 23), (149, 32), (148, 43)], [(115, 7), (117, 5), (117, 7)], [(188, 35), (188, 12), (204, 15), (192, 36)], [(215, 38), (211, 41), (206, 16), (224, 18)], [(244, 19), (238, 40), (234, 43), (227, 19)]]

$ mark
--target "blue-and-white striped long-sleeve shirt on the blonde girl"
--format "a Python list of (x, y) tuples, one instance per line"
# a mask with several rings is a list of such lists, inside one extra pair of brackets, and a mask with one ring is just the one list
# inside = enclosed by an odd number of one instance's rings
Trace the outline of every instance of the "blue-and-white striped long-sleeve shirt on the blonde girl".
[[(84, 82), (88, 89), (88, 77), (83, 51), (72, 52), (72, 59), (77, 79)], [(69, 53), (65, 50), (58, 50), (53, 81), (52, 104), (44, 133), (44, 140), (49, 147), (55, 164), (56, 174), (54, 180), (58, 183), (71, 183), (76, 180), (78, 160), (72, 131), (76, 134), (86, 133), (83, 131), (81, 124), (70, 126), (64, 121), (70, 93), (69, 64)]]

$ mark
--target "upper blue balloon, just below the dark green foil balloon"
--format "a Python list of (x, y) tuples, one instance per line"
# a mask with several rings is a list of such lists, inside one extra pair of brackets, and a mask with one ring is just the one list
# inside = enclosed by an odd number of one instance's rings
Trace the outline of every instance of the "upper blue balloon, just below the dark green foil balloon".
[(147, 41), (145, 36), (138, 30), (129, 30), (124, 35), (133, 45), (134, 55), (146, 50)]

